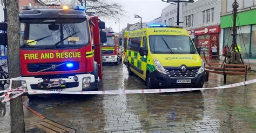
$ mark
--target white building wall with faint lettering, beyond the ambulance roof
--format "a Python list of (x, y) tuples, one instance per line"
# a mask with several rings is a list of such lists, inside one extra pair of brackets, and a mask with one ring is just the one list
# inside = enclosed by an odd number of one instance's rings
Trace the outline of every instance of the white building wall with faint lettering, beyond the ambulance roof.
[[(182, 4), (180, 4), (180, 11), (179, 11), (179, 21), (183, 22), (182, 19)], [(162, 24), (166, 24), (166, 25), (170, 25), (170, 26), (175, 26), (177, 25), (177, 11), (178, 11), (178, 6), (170, 4), (168, 6), (166, 6), (166, 8), (164, 8), (162, 10), (161, 13), (161, 20), (162, 20)], [(183, 24), (179, 24), (180, 26), (183, 26)]]

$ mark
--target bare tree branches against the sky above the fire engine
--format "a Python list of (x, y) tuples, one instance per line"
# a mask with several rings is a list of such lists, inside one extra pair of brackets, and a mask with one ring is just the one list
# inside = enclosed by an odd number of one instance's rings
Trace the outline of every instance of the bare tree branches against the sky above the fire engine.
[[(64, 0), (42, 0), (45, 4), (59, 4), (59, 5), (77, 5), (84, 2), (84, 0), (64, 1)], [(86, 13), (89, 16), (98, 16), (104, 18), (117, 19), (123, 16), (125, 11), (123, 6), (119, 3), (110, 0), (86, 1)]]

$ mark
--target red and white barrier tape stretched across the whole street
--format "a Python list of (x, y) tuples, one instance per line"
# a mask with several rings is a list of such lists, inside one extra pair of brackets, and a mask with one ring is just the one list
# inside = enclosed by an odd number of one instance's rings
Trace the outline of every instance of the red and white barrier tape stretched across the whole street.
[[(4, 94), (5, 99), (2, 102), (7, 102), (9, 100), (15, 99), (22, 95), (24, 92), (29, 92), (32, 94), (143, 94), (143, 93), (167, 93), (167, 92), (184, 92), (184, 91), (196, 91), (196, 90), (208, 90), (208, 89), (220, 89), (220, 88), (232, 88), (247, 84), (256, 83), (256, 79), (248, 80), (246, 82), (239, 82), (235, 84), (223, 85), (218, 87), (208, 87), (208, 88), (164, 88), (164, 89), (145, 89), (145, 90), (110, 90), (110, 91), (77, 91), (77, 92), (66, 92), (66, 91), (25, 91), (24, 89), (18, 87), (16, 89), (0, 91), (0, 93), (7, 92)], [(15, 93), (14, 96), (9, 98), (11, 93)]]

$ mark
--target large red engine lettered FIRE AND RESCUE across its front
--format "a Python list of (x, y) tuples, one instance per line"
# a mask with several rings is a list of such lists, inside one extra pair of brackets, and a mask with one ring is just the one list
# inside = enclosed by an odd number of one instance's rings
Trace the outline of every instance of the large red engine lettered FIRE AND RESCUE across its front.
[[(23, 6), (21, 21), (22, 87), (28, 91), (97, 90), (102, 78), (100, 43), (106, 33), (84, 6)], [(32, 98), (32, 93), (28, 93)]]

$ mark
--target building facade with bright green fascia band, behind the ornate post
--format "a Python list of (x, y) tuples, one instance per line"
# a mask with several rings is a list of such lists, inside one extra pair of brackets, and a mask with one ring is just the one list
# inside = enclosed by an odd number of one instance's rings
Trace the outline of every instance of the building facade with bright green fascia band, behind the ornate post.
[[(237, 44), (241, 47), (243, 58), (256, 59), (256, 0), (237, 0), (239, 4), (237, 15)], [(221, 1), (221, 47), (231, 47), (234, 0)], [(224, 51), (222, 51), (224, 52)]]

